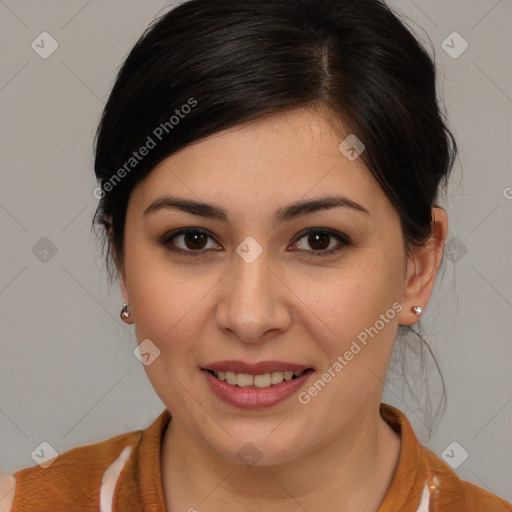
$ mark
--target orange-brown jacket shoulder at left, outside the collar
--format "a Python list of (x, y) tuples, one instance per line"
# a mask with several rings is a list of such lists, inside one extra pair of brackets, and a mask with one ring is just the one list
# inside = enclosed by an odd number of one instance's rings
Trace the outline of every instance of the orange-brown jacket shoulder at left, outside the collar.
[(99, 510), (100, 489), (106, 481), (117, 479), (142, 433), (137, 430), (72, 448), (44, 464), (4, 476), (0, 512), (72, 510), (77, 503), (84, 511)]

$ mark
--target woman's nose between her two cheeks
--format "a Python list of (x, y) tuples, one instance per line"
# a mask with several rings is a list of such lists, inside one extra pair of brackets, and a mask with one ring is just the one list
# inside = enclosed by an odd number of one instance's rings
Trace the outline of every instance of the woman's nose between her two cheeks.
[(258, 344), (288, 329), (293, 293), (265, 251), (250, 263), (237, 254), (219, 284), (217, 325), (227, 336)]

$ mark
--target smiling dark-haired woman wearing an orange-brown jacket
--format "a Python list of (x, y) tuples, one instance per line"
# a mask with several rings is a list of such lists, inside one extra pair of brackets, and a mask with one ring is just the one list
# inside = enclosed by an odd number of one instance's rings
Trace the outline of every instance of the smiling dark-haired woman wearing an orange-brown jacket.
[(157, 20), (105, 107), (96, 218), (166, 409), (4, 479), (4, 509), (510, 511), (381, 403), (448, 231), (435, 85), (378, 0)]

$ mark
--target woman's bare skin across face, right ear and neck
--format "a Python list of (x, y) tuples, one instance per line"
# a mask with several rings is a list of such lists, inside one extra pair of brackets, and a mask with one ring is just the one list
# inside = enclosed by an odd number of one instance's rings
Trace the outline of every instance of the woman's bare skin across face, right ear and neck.
[[(448, 221), (433, 208), (433, 236), (407, 257), (396, 210), (362, 160), (340, 153), (349, 134), (341, 132), (320, 111), (273, 115), (170, 156), (131, 194), (120, 284), (138, 341), (160, 350), (145, 370), (173, 415), (161, 452), (171, 512), (375, 512), (391, 483), (400, 439), (379, 414), (383, 381), (398, 326), (417, 322), (412, 306), (430, 299)], [(143, 214), (166, 194), (222, 206), (229, 222)], [(273, 225), (274, 210), (333, 194), (370, 215), (334, 208)], [(158, 243), (185, 227), (211, 238), (169, 245), (202, 256)], [(322, 240), (298, 238), (308, 228), (338, 231), (351, 244), (322, 256)], [(252, 263), (236, 252), (248, 236), (263, 250)], [(340, 246), (325, 240), (324, 252)], [(394, 303), (400, 313), (306, 405), (293, 395), (242, 410), (219, 400), (200, 372), (227, 359), (295, 362), (315, 369), (307, 390)], [(237, 457), (248, 442), (261, 453), (253, 467)]]

